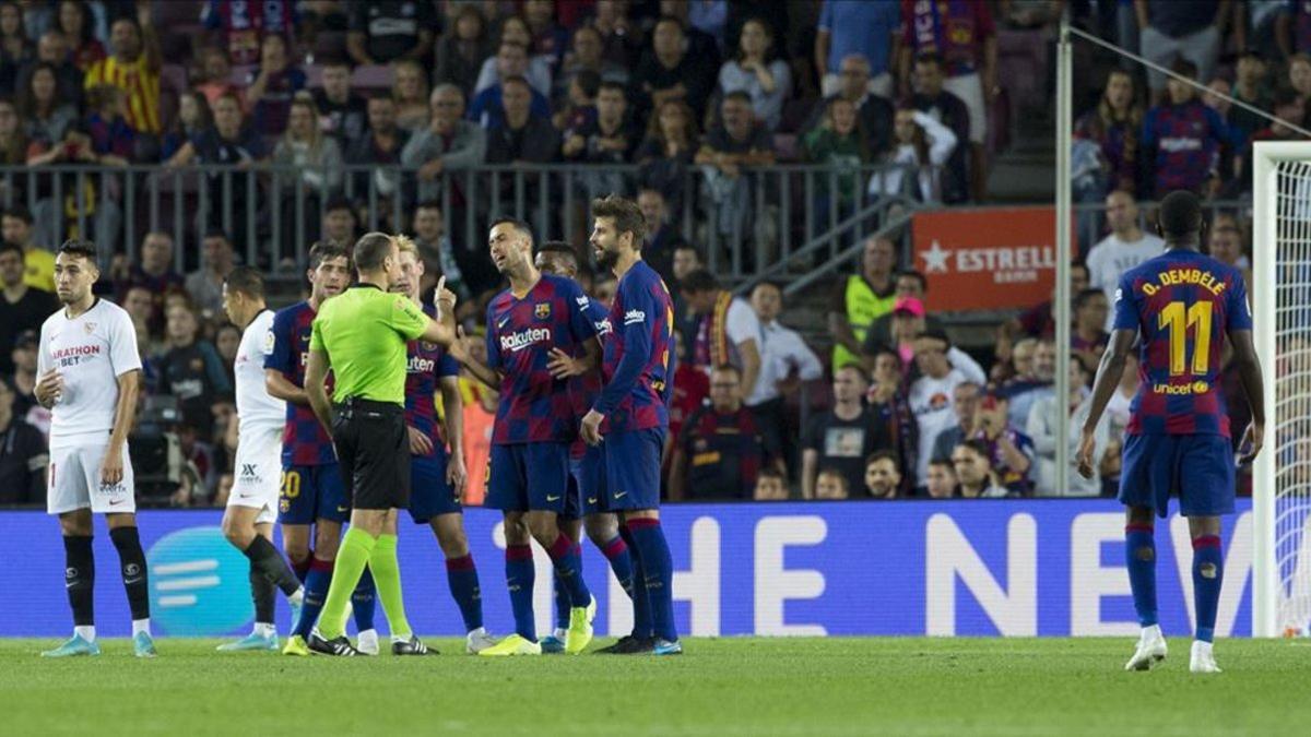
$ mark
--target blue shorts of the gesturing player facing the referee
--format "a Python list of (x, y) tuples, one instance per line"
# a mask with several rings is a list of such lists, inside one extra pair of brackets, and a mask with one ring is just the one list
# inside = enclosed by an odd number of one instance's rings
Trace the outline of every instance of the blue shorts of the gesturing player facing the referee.
[(482, 506), (503, 511), (565, 510), (569, 443), (493, 445)]

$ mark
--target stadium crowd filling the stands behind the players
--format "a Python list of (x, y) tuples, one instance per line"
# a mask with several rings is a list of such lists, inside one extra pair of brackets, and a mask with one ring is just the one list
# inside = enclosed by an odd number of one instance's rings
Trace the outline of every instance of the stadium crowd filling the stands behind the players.
[[(927, 308), (909, 233), (869, 239), (856, 266), (825, 285), (829, 334), (804, 336), (788, 327), (777, 285), (735, 295), (709, 269), (704, 231), (682, 232), (671, 216), (696, 176), (697, 218), (726, 232), (751, 216), (749, 172), (784, 161), (839, 174), (829, 180), (838, 191), (819, 188), (825, 210), (832, 197), (850, 207), (861, 186), (899, 191), (856, 180), (878, 163), (907, 167), (924, 202), (985, 202), (1019, 84), (1000, 77), (999, 30), (1046, 59), (1062, 13), (1290, 123), (1311, 115), (1306, 3), (29, 0), (0, 1), (0, 165), (290, 167), (326, 195), (302, 211), (267, 189), (229, 193), (231, 210), (281, 209), (284, 240), (299, 214), (308, 241), (345, 245), (370, 212), (347, 194), (342, 165), (400, 165), (405, 177), (378, 169), (354, 191), (400, 194), (406, 222), (385, 227), (413, 235), (425, 289), (444, 274), (477, 330), (499, 275), (482, 243), (446, 232), (456, 214), (443, 197), (461, 218), (476, 203), (444, 174), (635, 164), (636, 178), (598, 186), (638, 199), (645, 257), (675, 296), (670, 500), (1109, 494), (1137, 372), (1100, 430), (1097, 479), (1055, 489), (1055, 424), (1087, 410), (1120, 274), (1162, 248), (1138, 203), (1171, 189), (1240, 201), (1249, 142), (1294, 138), (1290, 127), (1139, 67), (1099, 79), (1080, 67), (1074, 188), (1104, 216), (1092, 207), (1079, 219), (1067, 397), (1053, 384), (1051, 302), (1003, 321), (995, 342), (979, 328), (962, 336)], [(94, 190), (106, 181), (111, 191)], [(143, 504), (222, 505), (231, 487), (240, 333), (223, 316), (222, 285), (252, 250), (244, 233), (224, 232), (218, 206), (198, 222), (199, 253), (181, 253), (164, 231), (122, 243), (123, 219), (138, 214), (123, 212), (115, 181), (73, 197), (67, 174), (47, 173), (5, 178), (0, 193), (0, 505), (42, 501), (37, 330), (58, 307), (55, 232), (84, 222), (106, 254), (98, 287), (131, 313), (147, 367), (134, 434), (134, 456), (155, 469), (138, 473)], [(1217, 209), (1210, 253), (1248, 268), (1249, 231), (1242, 207)], [(608, 303), (610, 275), (585, 269), (579, 281)], [(475, 380), (461, 387), (467, 460), (480, 468), (496, 397)], [(1245, 426), (1235, 375), (1226, 395)], [(476, 504), (482, 475), (471, 476)]]

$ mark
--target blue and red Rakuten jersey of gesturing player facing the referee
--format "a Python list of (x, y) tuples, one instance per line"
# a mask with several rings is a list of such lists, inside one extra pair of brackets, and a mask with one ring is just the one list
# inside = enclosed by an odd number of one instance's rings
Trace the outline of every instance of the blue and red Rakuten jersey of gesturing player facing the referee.
[(569, 382), (551, 375), (551, 349), (578, 355), (597, 337), (591, 300), (572, 279), (541, 274), (522, 299), (505, 290), (488, 304), (488, 366), (501, 371), (494, 445), (568, 443), (578, 434)]

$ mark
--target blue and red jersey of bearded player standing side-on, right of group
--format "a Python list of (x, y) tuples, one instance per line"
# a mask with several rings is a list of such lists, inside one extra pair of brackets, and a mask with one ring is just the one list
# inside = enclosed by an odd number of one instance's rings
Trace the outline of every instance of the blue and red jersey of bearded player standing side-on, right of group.
[(674, 376), (674, 302), (665, 281), (645, 261), (619, 279), (610, 307), (602, 376), (606, 388), (595, 409), (602, 430), (669, 428)]

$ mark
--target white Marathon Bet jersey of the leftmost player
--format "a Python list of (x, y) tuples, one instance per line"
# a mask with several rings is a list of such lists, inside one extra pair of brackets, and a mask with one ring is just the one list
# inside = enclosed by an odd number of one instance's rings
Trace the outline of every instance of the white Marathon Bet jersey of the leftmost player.
[(132, 319), (104, 299), (72, 320), (55, 312), (41, 325), (37, 376), (51, 368), (63, 376), (64, 393), (51, 410), (50, 446), (108, 442), (118, 378), (142, 368)]

